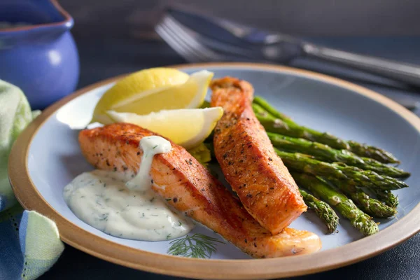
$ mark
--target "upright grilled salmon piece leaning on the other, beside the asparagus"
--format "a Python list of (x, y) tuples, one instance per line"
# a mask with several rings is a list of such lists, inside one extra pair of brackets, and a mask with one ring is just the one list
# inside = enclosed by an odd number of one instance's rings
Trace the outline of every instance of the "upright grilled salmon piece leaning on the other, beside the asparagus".
[(214, 129), (214, 151), (244, 207), (273, 235), (307, 210), (299, 189), (274, 152), (252, 110), (253, 87), (225, 77), (211, 85), (211, 106), (223, 107)]

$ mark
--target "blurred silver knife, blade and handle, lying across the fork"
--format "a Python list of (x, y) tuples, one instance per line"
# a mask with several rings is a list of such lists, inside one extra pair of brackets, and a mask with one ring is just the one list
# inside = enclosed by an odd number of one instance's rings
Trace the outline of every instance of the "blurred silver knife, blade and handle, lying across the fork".
[[(288, 34), (250, 29), (236, 22), (190, 13), (186, 10), (169, 8), (167, 13), (200, 34), (213, 38), (214, 41), (228, 40), (226, 42), (239, 45), (241, 48), (251, 47), (257, 55), (262, 55), (264, 59), (270, 61), (287, 64), (295, 57), (306, 56), (420, 87), (420, 65), (325, 48)], [(227, 25), (227, 22), (230, 24)]]

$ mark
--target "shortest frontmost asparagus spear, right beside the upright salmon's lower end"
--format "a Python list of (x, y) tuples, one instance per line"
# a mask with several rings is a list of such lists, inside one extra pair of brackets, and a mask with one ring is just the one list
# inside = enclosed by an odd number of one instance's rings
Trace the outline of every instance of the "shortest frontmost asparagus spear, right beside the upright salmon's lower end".
[(303, 197), (304, 203), (307, 204), (309, 209), (313, 209), (316, 213), (316, 216), (321, 218), (323, 223), (327, 226), (327, 230), (329, 233), (335, 232), (337, 230), (338, 225), (338, 216), (335, 214), (335, 211), (332, 210), (330, 205), (327, 203), (318, 200), (313, 195), (310, 195), (306, 191), (299, 189), (300, 194)]

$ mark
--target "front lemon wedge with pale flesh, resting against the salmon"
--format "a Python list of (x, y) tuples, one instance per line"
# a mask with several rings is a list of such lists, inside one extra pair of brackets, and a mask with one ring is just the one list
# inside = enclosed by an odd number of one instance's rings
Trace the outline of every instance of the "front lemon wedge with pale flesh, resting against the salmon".
[(116, 123), (132, 123), (167, 137), (184, 148), (194, 148), (209, 137), (223, 116), (222, 107), (162, 110), (148, 115), (107, 111)]

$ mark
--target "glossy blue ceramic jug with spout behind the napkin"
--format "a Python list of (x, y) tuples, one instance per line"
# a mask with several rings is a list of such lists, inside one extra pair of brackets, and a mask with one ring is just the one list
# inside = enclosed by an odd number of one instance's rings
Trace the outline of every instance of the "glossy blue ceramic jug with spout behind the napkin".
[(32, 109), (44, 109), (78, 83), (79, 61), (70, 34), (73, 19), (55, 0), (2, 0), (0, 79), (20, 87)]

